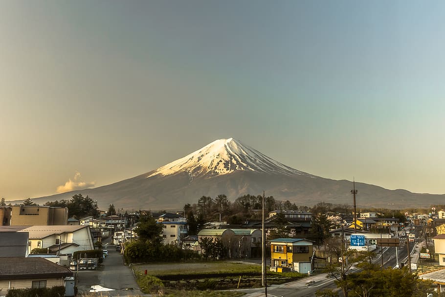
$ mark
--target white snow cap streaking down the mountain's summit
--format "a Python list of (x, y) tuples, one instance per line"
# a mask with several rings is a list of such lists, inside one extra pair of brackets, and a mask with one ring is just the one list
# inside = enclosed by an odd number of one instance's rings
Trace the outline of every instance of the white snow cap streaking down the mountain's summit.
[(236, 170), (306, 175), (304, 172), (270, 159), (238, 140), (228, 138), (215, 140), (184, 158), (159, 167), (148, 177), (178, 172), (187, 172), (191, 177), (203, 175), (211, 177)]

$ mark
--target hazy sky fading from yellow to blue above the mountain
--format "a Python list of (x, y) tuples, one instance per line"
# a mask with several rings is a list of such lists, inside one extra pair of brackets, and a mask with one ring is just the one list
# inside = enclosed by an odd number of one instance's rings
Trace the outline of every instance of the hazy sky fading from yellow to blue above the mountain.
[(117, 182), (228, 137), (314, 175), (445, 193), (444, 12), (3, 0), (0, 196)]

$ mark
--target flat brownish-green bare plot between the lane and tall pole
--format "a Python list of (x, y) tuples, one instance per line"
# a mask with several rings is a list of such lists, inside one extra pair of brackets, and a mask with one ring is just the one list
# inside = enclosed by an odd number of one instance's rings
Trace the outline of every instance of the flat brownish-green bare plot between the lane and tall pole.
[(162, 263), (134, 265), (134, 270), (150, 275), (260, 272), (261, 264), (244, 261), (208, 261), (199, 263)]

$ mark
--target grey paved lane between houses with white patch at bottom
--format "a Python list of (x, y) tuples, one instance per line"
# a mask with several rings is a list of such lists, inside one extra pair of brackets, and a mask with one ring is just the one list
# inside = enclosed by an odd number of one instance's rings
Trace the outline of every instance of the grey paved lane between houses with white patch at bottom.
[(96, 292), (102, 291), (103, 296), (144, 296), (137, 286), (133, 271), (124, 265), (123, 256), (112, 245), (104, 249), (108, 250), (108, 257), (103, 259), (102, 265), (97, 270), (79, 271), (78, 292), (88, 293), (94, 286), (97, 288)]

